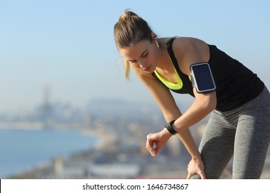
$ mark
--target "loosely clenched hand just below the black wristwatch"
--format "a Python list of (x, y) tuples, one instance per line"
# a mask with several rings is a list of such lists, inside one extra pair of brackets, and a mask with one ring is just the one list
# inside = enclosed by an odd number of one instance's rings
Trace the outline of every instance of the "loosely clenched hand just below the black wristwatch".
[(148, 134), (146, 141), (147, 150), (152, 156), (156, 156), (159, 153), (159, 150), (163, 148), (171, 136), (172, 134), (170, 134), (166, 128), (164, 128), (161, 132)]

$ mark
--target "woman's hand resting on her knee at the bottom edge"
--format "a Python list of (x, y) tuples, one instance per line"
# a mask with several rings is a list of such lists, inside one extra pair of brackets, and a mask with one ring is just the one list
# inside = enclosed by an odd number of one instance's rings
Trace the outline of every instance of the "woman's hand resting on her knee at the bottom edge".
[(201, 158), (195, 157), (192, 158), (188, 164), (188, 176), (186, 179), (190, 179), (191, 176), (199, 174), (201, 179), (206, 179), (206, 174), (204, 173), (204, 163)]

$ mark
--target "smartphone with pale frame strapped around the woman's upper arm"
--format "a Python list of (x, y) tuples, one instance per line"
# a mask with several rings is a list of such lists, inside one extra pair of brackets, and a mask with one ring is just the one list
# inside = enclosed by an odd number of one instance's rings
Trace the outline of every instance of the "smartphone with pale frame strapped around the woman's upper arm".
[(195, 87), (199, 93), (211, 92), (216, 88), (208, 63), (195, 63), (190, 65), (190, 77), (192, 86)]

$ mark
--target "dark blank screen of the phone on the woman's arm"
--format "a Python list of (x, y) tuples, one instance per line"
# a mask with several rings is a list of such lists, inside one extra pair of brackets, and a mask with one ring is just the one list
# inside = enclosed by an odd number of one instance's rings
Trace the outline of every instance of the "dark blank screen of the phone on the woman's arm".
[(215, 83), (208, 63), (192, 65), (198, 91), (215, 90)]

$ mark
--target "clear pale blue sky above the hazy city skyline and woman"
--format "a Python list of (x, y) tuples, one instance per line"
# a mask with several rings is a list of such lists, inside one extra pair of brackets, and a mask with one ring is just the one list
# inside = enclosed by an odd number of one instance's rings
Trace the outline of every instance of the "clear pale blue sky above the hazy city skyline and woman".
[[(0, 112), (51, 101), (83, 107), (91, 99), (152, 101), (125, 81), (113, 28), (130, 8), (159, 37), (197, 37), (238, 59), (270, 88), (270, 1), (0, 1)], [(186, 100), (177, 95), (177, 100)]]

